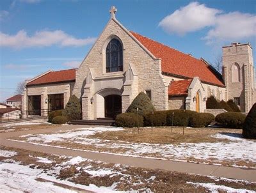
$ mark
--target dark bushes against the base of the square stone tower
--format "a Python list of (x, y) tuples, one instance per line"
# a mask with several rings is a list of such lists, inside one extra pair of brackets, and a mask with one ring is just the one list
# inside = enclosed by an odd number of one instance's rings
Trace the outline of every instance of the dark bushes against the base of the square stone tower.
[(206, 109), (225, 109), (228, 112), (241, 112), (233, 100), (230, 99), (227, 102), (221, 100), (219, 102), (214, 96), (207, 98)]

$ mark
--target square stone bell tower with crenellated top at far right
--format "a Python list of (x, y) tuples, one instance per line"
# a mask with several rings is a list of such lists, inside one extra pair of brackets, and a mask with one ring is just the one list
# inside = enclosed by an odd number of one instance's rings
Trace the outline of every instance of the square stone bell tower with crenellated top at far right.
[(225, 100), (234, 100), (241, 112), (248, 112), (256, 98), (252, 47), (250, 43), (232, 43), (222, 50)]

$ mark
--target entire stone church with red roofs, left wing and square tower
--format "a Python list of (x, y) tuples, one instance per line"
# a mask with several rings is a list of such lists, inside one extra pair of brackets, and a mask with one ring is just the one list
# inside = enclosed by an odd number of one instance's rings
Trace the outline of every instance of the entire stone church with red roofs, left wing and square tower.
[[(204, 112), (211, 95), (218, 100), (232, 98), (240, 102), (243, 112), (248, 112), (255, 102), (249, 44), (223, 47), (222, 76), (203, 58), (193, 58), (128, 31), (116, 20), (115, 13), (115, 7), (111, 8), (111, 19), (79, 68), (48, 71), (27, 81), (22, 95), (24, 109), (42, 115), (42, 109), (63, 108), (70, 95), (76, 95), (81, 100), (84, 120), (113, 117), (125, 112), (141, 91), (147, 93), (157, 110)], [(233, 83), (227, 78), (237, 80), (234, 73), (229, 75), (234, 63), (243, 69), (239, 72), (239, 88), (230, 86)]]

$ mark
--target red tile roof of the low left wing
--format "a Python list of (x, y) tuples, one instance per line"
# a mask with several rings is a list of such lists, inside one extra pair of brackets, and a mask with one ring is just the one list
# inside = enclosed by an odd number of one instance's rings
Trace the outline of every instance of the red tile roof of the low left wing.
[(45, 75), (42, 75), (42, 77), (38, 77), (34, 81), (29, 82), (27, 86), (72, 81), (76, 81), (76, 68), (46, 73)]

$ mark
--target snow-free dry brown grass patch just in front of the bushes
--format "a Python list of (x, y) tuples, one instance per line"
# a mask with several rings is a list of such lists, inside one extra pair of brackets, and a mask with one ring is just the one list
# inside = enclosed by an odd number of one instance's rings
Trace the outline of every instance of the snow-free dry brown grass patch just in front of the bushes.
[(225, 128), (184, 128), (182, 127), (156, 127), (140, 128), (139, 134), (137, 128), (125, 128), (120, 131), (100, 132), (95, 135), (90, 135), (90, 138), (106, 139), (111, 141), (127, 141), (130, 143), (157, 143), (157, 144), (179, 144), (179, 143), (213, 143), (225, 141), (225, 139), (216, 139), (211, 137), (219, 132), (239, 133), (239, 129)]

